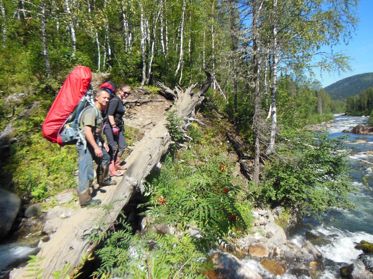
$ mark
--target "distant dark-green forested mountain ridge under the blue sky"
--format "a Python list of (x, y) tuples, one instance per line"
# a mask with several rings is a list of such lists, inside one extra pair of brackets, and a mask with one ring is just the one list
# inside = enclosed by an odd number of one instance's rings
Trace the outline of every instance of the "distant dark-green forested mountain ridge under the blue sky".
[(333, 100), (341, 100), (357, 95), (361, 90), (366, 90), (370, 86), (373, 86), (373, 73), (365, 73), (346, 77), (326, 86), (324, 90)]

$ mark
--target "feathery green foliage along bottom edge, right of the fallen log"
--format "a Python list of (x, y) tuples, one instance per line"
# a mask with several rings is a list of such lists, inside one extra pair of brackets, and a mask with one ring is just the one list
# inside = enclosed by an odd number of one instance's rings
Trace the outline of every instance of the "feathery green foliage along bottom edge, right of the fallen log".
[[(101, 207), (112, 211), (113, 203)], [(93, 273), (95, 278), (204, 278), (200, 273), (206, 270), (207, 255), (198, 250), (189, 234), (134, 235), (123, 220), (122, 214), (114, 223), (96, 220), (90, 238), (99, 241), (102, 248), (95, 252), (101, 260)], [(107, 227), (113, 230), (106, 231)]]

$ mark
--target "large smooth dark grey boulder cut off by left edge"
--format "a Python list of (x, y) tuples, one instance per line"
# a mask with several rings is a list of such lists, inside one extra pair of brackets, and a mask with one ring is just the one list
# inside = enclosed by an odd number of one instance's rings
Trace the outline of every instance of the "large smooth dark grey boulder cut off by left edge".
[(0, 189), (0, 238), (10, 231), (20, 208), (21, 199), (16, 194)]

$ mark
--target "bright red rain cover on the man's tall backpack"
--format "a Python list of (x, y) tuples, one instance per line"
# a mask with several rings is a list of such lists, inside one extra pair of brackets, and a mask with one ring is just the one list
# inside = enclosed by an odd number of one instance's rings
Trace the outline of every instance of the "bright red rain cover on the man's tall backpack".
[(69, 74), (43, 123), (43, 136), (48, 141), (63, 146), (59, 137), (60, 128), (87, 92), (91, 79), (91, 69), (81, 65)]

